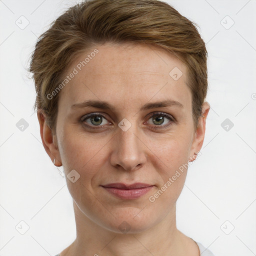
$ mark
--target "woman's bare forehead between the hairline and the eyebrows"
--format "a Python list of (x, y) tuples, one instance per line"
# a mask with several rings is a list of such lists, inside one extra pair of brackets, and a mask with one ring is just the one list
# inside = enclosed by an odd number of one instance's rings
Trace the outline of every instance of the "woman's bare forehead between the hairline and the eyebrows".
[(66, 110), (85, 99), (118, 100), (122, 106), (151, 98), (190, 101), (185, 64), (157, 46), (97, 44), (70, 64), (65, 75), (71, 73), (59, 98)]

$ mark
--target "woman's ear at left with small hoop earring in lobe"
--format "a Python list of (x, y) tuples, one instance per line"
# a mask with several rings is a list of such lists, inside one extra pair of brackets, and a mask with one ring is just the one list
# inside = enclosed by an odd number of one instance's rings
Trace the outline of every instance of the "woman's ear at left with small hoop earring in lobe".
[(37, 118), (40, 124), (40, 135), (43, 147), (47, 154), (49, 155), (51, 161), (55, 159), (54, 164), (56, 166), (61, 166), (60, 154), (57, 146), (56, 134), (52, 133), (52, 130), (46, 123), (46, 115), (43, 110), (39, 109), (37, 111)]

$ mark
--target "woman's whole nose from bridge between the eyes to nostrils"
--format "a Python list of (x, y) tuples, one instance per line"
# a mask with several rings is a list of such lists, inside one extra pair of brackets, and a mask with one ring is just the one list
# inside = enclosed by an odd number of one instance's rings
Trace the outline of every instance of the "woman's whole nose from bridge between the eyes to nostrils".
[(118, 123), (115, 146), (111, 163), (121, 165), (125, 170), (132, 170), (145, 161), (142, 142), (138, 138), (138, 128), (133, 121), (122, 119)]

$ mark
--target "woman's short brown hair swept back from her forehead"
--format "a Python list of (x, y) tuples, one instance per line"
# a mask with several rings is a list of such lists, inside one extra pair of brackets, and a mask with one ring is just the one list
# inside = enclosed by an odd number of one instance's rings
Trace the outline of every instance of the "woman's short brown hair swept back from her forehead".
[(42, 33), (31, 55), (34, 109), (42, 109), (55, 132), (59, 93), (47, 98), (64, 70), (93, 43), (135, 42), (158, 45), (188, 69), (194, 126), (207, 93), (207, 51), (195, 23), (159, 0), (88, 0), (69, 7)]

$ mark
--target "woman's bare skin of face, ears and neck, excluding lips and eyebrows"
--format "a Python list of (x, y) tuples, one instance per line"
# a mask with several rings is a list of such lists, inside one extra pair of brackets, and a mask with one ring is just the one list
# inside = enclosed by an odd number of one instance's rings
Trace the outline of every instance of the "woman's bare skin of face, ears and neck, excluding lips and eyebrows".
[[(43, 112), (37, 112), (43, 146), (55, 165), (63, 165), (73, 198), (77, 236), (60, 256), (198, 256), (196, 243), (176, 228), (175, 204), (187, 169), (154, 202), (148, 197), (200, 150), (209, 104), (203, 103), (204, 117), (199, 117), (194, 129), (187, 69), (179, 59), (157, 46), (105, 43), (95, 47), (95, 57), (59, 92), (56, 132), (47, 126)], [(66, 74), (91, 51), (78, 56)], [(183, 73), (178, 80), (169, 75), (174, 67)], [(114, 108), (71, 109), (88, 99), (107, 101)], [(139, 110), (148, 102), (165, 99), (183, 107)], [(175, 120), (164, 117), (161, 123), (150, 117), (155, 112)], [(98, 121), (101, 127), (90, 118), (80, 121), (89, 113), (103, 115)], [(123, 118), (131, 124), (126, 131), (118, 126)], [(80, 175), (74, 183), (66, 176), (72, 169)], [(112, 182), (153, 187), (137, 199), (124, 200), (100, 186)], [(129, 229), (126, 233), (119, 229), (123, 221)]]

